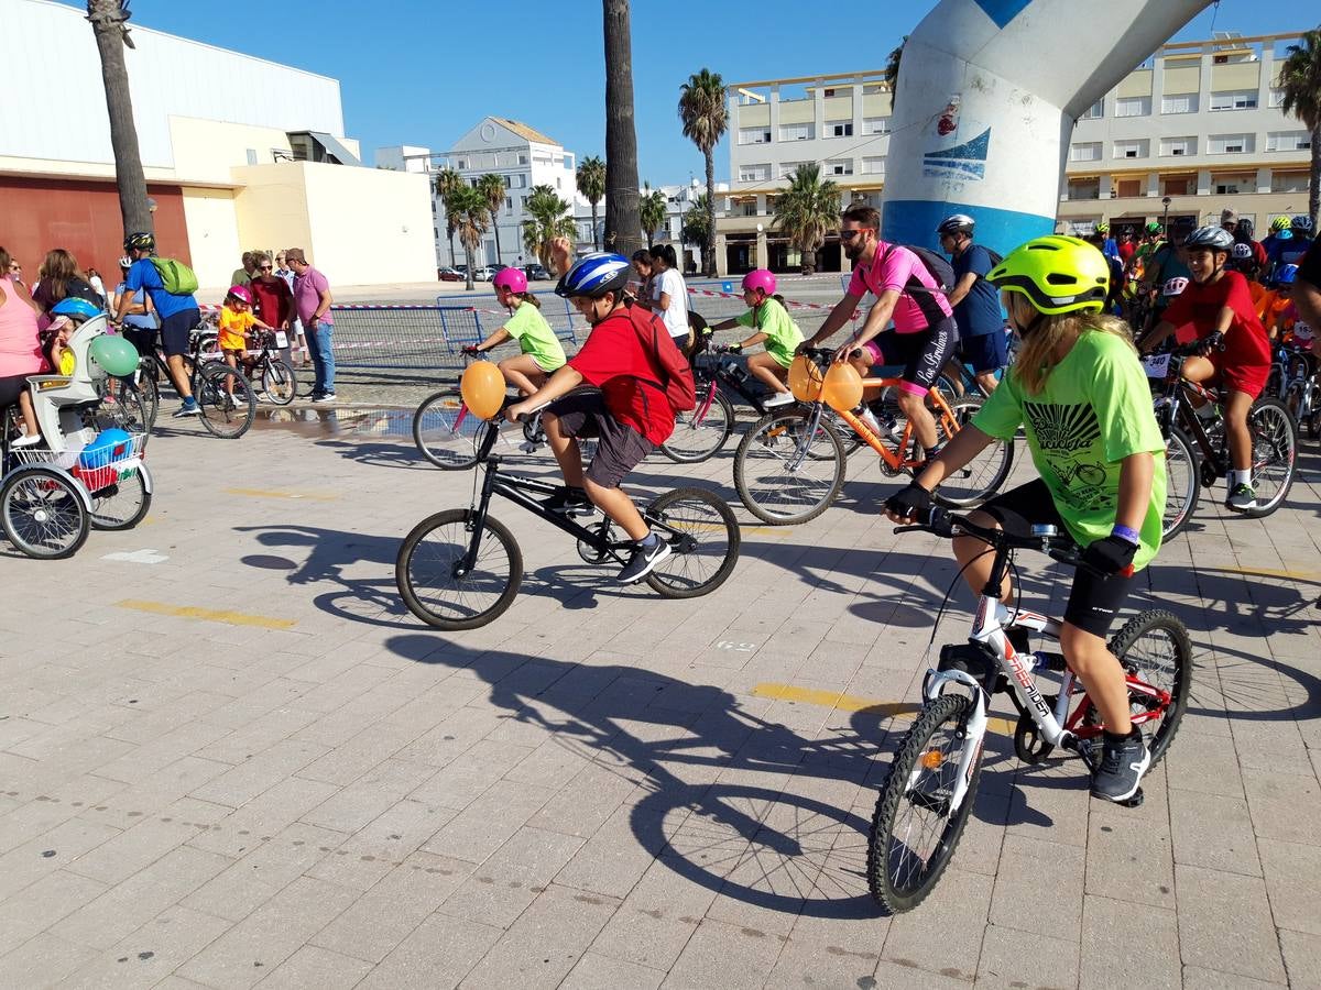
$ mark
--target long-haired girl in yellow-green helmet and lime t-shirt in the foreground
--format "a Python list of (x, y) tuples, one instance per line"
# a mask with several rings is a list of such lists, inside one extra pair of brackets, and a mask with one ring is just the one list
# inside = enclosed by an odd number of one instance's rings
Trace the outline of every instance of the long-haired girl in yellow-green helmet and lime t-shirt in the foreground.
[[(1089, 566), (1074, 572), (1059, 645), (1106, 725), (1091, 793), (1124, 801), (1137, 791), (1151, 754), (1129, 718), (1124, 671), (1106, 636), (1133, 572), (1160, 548), (1165, 442), (1128, 326), (1103, 315), (1110, 264), (1095, 247), (1077, 238), (1038, 238), (996, 265), (988, 281), (1001, 290), (1022, 341), (1018, 359), (972, 422), (886, 500), (886, 515), (925, 517), (942, 479), (992, 440), (1012, 440), (1022, 425), (1041, 478), (997, 495), (970, 519), (1022, 536), (1033, 524), (1053, 524), (1082, 548)], [(991, 578), (988, 548), (959, 536), (954, 553), (980, 594)], [(1008, 578), (1001, 597), (1012, 602)]]

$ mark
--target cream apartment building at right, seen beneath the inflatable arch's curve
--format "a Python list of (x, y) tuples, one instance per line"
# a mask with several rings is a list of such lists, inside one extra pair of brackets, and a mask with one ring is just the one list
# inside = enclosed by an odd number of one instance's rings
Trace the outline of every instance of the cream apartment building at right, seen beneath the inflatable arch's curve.
[(1059, 194), (1063, 228), (1149, 219), (1218, 222), (1232, 207), (1258, 236), (1306, 213), (1310, 144), (1276, 86), (1293, 34), (1165, 45), (1078, 120)]

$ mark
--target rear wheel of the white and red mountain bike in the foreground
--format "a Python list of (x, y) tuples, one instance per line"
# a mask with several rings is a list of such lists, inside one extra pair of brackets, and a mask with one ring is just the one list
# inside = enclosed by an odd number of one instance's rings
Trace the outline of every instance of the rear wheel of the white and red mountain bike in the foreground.
[[(1124, 623), (1110, 640), (1110, 652), (1119, 657), (1127, 673), (1169, 692), (1169, 708), (1164, 714), (1139, 726), (1155, 767), (1169, 748), (1188, 708), (1193, 678), (1193, 644), (1188, 630), (1173, 612), (1151, 609)], [(1155, 710), (1155, 700), (1129, 692), (1129, 710), (1133, 715), (1147, 714)], [(1083, 719), (1089, 725), (1099, 721), (1090, 702)]]

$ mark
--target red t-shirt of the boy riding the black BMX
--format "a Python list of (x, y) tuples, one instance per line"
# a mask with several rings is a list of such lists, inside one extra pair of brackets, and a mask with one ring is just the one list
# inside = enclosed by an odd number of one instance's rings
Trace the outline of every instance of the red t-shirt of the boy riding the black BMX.
[(620, 309), (592, 327), (569, 367), (605, 396), (605, 408), (620, 422), (653, 444), (664, 444), (674, 432), (674, 411), (662, 374), (642, 346), (626, 309)]

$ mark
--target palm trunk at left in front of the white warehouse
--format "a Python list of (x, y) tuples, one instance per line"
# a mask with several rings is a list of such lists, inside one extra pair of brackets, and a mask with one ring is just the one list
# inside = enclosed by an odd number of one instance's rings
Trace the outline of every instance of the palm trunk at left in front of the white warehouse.
[(124, 48), (135, 48), (128, 36), (128, 0), (87, 0), (87, 20), (100, 53), (100, 78), (106, 84), (110, 114), (110, 147), (115, 156), (115, 183), (119, 186), (119, 213), (124, 234), (155, 232), (148, 209), (147, 176), (133, 125), (133, 100), (128, 91)]

